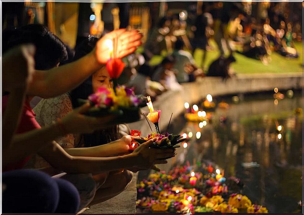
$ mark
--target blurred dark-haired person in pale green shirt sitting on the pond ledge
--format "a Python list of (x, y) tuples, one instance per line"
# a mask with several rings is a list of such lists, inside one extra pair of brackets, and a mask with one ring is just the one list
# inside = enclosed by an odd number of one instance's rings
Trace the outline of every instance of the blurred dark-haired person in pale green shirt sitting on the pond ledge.
[(198, 76), (204, 76), (203, 70), (197, 68), (192, 54), (183, 50), (183, 46), (183, 41), (178, 39), (172, 53), (176, 62), (174, 69), (178, 71), (176, 79), (179, 83), (195, 81)]

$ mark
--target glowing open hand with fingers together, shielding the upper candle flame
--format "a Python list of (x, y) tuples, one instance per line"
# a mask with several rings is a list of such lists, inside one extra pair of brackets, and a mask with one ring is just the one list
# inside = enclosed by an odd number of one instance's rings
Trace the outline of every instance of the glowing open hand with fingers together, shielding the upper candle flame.
[(107, 45), (107, 40), (112, 40), (118, 38), (117, 44), (117, 58), (123, 58), (129, 54), (132, 54), (138, 46), (141, 45), (141, 38), (143, 37), (139, 31), (126, 31), (126, 29), (118, 29), (111, 31), (104, 35), (100, 40), (98, 40), (95, 49), (93, 50), (96, 54), (97, 62), (100, 64), (106, 64), (107, 60), (110, 58), (110, 52)]

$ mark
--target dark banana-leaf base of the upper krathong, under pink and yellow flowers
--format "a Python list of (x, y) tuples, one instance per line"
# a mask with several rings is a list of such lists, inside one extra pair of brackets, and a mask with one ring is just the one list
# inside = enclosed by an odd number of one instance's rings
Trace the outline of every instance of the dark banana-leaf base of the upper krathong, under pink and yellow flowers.
[[(78, 99), (79, 106), (87, 103), (88, 100)], [(114, 124), (131, 123), (140, 120), (141, 114), (138, 107), (119, 108), (118, 110), (111, 110), (110, 108), (100, 108), (93, 106), (85, 113), (87, 116), (101, 117), (106, 115), (117, 115), (112, 120)]]

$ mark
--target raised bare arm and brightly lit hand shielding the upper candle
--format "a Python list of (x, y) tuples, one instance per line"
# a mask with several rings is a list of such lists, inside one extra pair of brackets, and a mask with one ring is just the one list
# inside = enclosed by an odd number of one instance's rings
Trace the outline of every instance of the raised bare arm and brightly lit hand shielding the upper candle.
[(87, 79), (93, 72), (107, 63), (110, 50), (108, 39), (118, 38), (118, 58), (133, 53), (141, 44), (142, 34), (138, 31), (114, 30), (102, 37), (95, 49), (83, 58), (47, 71), (35, 71), (28, 95), (50, 98), (66, 93)]

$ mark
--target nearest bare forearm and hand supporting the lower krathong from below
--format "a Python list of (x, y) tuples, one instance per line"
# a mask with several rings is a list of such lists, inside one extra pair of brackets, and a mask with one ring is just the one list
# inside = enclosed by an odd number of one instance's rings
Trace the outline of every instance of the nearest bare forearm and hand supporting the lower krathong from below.
[(161, 160), (174, 156), (172, 150), (150, 149), (156, 139), (141, 144), (133, 153), (116, 157), (81, 157), (71, 156), (55, 141), (38, 154), (56, 169), (67, 173), (100, 173), (133, 167), (150, 168), (153, 164), (166, 163)]

